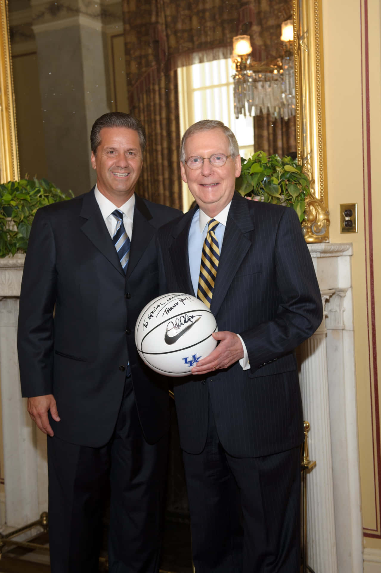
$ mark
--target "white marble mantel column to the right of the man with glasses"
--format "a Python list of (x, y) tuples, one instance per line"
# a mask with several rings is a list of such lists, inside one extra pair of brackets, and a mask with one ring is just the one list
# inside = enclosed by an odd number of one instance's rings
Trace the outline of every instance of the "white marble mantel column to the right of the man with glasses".
[(316, 468), (308, 475), (308, 563), (317, 572), (358, 573), (363, 567), (363, 548), (353, 249), (344, 243), (308, 248), (324, 304), (322, 325), (301, 347), (304, 419), (311, 423), (309, 454), (316, 460)]

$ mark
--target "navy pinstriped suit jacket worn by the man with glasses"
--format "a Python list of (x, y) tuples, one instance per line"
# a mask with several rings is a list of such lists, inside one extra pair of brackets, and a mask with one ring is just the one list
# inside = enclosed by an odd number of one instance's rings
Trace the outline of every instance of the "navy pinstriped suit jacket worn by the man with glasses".
[[(188, 264), (194, 213), (158, 231), (169, 292), (195, 295)], [(293, 209), (234, 195), (211, 311), (219, 331), (243, 338), (250, 369), (244, 371), (237, 362), (207, 379), (176, 380), (182, 449), (203, 450), (209, 395), (221, 444), (232, 456), (264, 456), (301, 444), (303, 415), (294, 349), (315, 332), (323, 315), (315, 270)]]

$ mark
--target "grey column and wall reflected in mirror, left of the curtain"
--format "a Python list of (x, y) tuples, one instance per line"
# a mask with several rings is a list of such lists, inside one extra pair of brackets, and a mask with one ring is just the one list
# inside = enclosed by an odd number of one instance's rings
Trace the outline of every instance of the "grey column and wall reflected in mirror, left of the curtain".
[(10, 0), (9, 25), (20, 173), (84, 193), (93, 121), (128, 111), (121, 4)]

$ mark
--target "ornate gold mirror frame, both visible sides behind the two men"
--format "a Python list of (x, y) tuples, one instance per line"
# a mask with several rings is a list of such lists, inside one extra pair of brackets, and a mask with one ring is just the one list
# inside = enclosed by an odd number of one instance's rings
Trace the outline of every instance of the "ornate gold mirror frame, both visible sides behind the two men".
[[(321, 0), (292, 0), (297, 158), (311, 180), (303, 233), (329, 241)], [(19, 179), (7, 2), (0, 0), (0, 182)]]

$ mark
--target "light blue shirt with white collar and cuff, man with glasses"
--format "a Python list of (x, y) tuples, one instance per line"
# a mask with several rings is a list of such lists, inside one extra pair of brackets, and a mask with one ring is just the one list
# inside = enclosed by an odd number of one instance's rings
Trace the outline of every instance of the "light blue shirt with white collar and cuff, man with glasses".
[[(216, 239), (219, 242), (219, 250), (221, 256), (221, 250), (223, 246), (224, 233), (226, 222), (228, 218), (228, 213), (230, 209), (231, 202), (213, 219), (216, 219), (220, 224), (217, 225), (215, 229)], [(208, 222), (211, 217), (204, 213), (203, 210), (197, 209), (196, 213), (193, 215), (192, 222), (190, 223), (189, 235), (188, 235), (188, 258), (189, 258), (189, 269), (190, 269), (190, 279), (192, 280), (193, 291), (197, 296), (197, 290), (199, 288), (199, 276), (200, 276), (200, 266), (201, 266), (201, 254), (203, 252), (203, 245), (205, 237), (208, 233)], [(218, 272), (218, 270), (217, 270)], [(247, 349), (245, 343), (243, 342), (241, 336), (239, 337), (244, 356), (240, 359), (240, 365), (243, 370), (248, 370), (250, 368), (249, 357), (247, 354)]]

